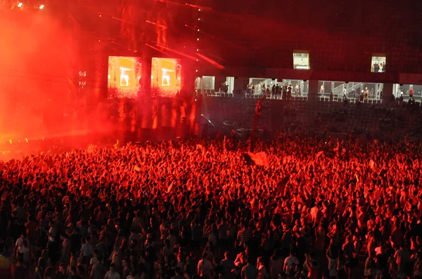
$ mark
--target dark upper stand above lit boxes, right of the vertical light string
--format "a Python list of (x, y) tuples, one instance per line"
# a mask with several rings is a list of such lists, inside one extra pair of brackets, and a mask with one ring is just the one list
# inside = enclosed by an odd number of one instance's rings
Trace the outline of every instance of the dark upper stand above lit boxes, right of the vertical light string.
[(202, 48), (217, 43), (235, 64), (292, 67), (293, 50), (308, 50), (313, 69), (368, 71), (372, 53), (385, 53), (388, 69), (421, 71), (421, 1), (201, 2), (212, 8)]

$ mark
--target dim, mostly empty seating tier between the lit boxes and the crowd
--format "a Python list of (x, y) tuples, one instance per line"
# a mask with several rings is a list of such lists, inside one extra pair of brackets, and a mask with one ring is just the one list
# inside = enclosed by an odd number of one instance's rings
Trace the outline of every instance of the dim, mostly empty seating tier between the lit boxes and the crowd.
[[(257, 99), (254, 98), (205, 97), (204, 111), (215, 125), (226, 122), (236, 123), (238, 128), (252, 128), (256, 104)], [(418, 103), (410, 106), (406, 102), (385, 104), (376, 100), (328, 102), (324, 97), (309, 102), (306, 97), (292, 97), (290, 100), (266, 99), (259, 128), (283, 130), (289, 125), (300, 124), (314, 132), (328, 129), (347, 133), (355, 130), (394, 136), (401, 132), (418, 132), (420, 116)]]

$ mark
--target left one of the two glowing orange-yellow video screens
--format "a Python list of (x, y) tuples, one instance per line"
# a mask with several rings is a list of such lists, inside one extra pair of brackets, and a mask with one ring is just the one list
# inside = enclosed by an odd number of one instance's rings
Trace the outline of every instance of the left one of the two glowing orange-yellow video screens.
[(142, 63), (139, 57), (108, 57), (108, 99), (136, 98)]

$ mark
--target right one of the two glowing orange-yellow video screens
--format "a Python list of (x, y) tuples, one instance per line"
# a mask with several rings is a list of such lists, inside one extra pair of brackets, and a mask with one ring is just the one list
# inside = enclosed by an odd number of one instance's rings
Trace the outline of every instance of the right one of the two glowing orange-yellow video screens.
[(174, 97), (181, 90), (181, 64), (179, 59), (153, 58), (151, 89), (160, 97)]

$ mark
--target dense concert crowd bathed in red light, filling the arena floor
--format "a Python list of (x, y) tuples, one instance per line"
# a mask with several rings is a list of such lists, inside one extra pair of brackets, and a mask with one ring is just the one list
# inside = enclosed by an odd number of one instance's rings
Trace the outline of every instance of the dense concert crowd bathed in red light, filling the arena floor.
[[(422, 278), (420, 143), (280, 135), (0, 164), (0, 278)], [(252, 156), (253, 158), (253, 156)]]

